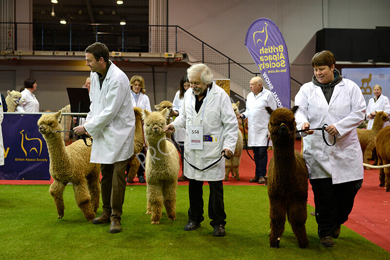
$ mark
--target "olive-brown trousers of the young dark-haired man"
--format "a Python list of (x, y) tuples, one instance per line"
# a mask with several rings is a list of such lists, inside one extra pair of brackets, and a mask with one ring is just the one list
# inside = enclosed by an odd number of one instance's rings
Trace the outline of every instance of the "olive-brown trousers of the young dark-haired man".
[(127, 160), (100, 165), (103, 212), (111, 215), (111, 220), (121, 220), (126, 189), (126, 166)]

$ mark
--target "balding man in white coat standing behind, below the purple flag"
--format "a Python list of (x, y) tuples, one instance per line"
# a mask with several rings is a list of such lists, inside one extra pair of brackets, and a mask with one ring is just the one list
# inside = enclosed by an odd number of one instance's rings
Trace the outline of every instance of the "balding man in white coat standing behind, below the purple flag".
[(263, 88), (263, 79), (259, 76), (250, 81), (251, 93), (247, 96), (246, 110), (237, 117), (248, 118), (248, 146), (254, 153), (254, 178), (251, 183), (265, 184), (268, 163), (268, 122), (270, 114), (265, 107), (277, 108), (271, 91)]

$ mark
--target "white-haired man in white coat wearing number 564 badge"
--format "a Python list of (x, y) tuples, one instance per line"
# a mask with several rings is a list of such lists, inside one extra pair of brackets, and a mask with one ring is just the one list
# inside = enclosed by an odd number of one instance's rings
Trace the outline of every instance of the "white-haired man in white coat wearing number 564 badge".
[[(225, 158), (204, 169), (221, 157), (233, 156), (237, 142), (238, 124), (228, 94), (213, 81), (213, 74), (205, 64), (195, 64), (187, 70), (191, 89), (184, 94), (179, 115), (164, 128), (173, 132), (186, 127), (184, 141), (184, 171), (189, 179), (190, 208), (184, 230), (200, 227), (203, 217), (203, 182), (210, 186), (209, 217), (213, 235), (225, 236), (226, 213), (223, 203)], [(189, 165), (192, 164), (194, 167)], [(204, 169), (204, 170), (203, 170)]]

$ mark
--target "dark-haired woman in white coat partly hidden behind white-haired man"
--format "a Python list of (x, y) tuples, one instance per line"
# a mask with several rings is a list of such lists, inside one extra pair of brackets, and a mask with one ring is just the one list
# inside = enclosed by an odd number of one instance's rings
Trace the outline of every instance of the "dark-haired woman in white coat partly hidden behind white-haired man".
[[(179, 115), (179, 111), (181, 108), (181, 104), (183, 103), (184, 93), (190, 88), (190, 80), (188, 79), (187, 75), (184, 75), (179, 84), (178, 91), (175, 94), (174, 102), (172, 103), (172, 114), (174, 116)], [(184, 138), (186, 135), (185, 128), (179, 129), (175, 132), (174, 140), (175, 144), (180, 149), (180, 155), (181, 155), (181, 169), (182, 173), (181, 176), (177, 179), (180, 181), (187, 181), (188, 178), (184, 175)]]

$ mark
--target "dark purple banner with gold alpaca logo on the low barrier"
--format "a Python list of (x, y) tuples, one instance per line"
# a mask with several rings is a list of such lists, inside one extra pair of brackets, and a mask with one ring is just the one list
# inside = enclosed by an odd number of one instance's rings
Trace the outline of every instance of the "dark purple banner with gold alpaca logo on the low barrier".
[(38, 131), (39, 114), (4, 114), (1, 180), (50, 180), (49, 153)]

